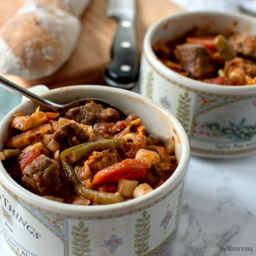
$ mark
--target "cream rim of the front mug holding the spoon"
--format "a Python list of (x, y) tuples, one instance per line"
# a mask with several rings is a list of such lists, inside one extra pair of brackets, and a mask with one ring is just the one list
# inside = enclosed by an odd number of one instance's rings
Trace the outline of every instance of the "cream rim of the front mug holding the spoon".
[[(128, 95), (129, 97), (137, 98), (140, 100), (142, 99), (144, 102), (147, 102), (150, 105), (152, 105), (154, 108), (158, 109), (161, 113), (164, 114), (166, 118), (169, 118), (169, 122), (174, 125), (175, 130), (178, 132), (178, 136), (180, 138), (180, 142), (182, 145), (180, 162), (175, 172), (161, 186), (159, 186), (158, 188), (154, 189), (152, 192), (142, 197), (138, 197), (132, 200), (128, 200), (128, 201), (116, 203), (116, 204), (82, 207), (79, 205), (65, 204), (65, 203), (60, 203), (60, 202), (52, 201), (49, 199), (45, 199), (44, 197), (38, 196), (30, 192), (26, 188), (23, 188), (21, 185), (19, 185), (16, 181), (14, 181), (11, 178), (11, 176), (9, 176), (9, 174), (7, 173), (7, 171), (3, 166), (3, 162), (0, 161), (0, 180), (2, 185), (4, 184), (5, 190), (6, 188), (9, 189), (11, 193), (14, 193), (15, 196), (21, 199), (22, 201), (25, 201), (26, 203), (29, 202), (29, 204), (34, 204), (34, 206), (40, 209), (51, 210), (53, 212), (61, 213), (64, 215), (70, 214), (70, 215), (76, 215), (76, 216), (87, 216), (91, 214), (94, 214), (94, 215), (100, 214), (101, 216), (102, 215), (104, 216), (117, 211), (123, 212), (125, 210), (140, 208), (140, 206), (146, 205), (147, 201), (152, 201), (152, 199), (155, 197), (158, 197), (159, 199), (161, 196), (164, 195), (163, 191), (167, 189), (168, 191), (171, 191), (171, 189), (174, 188), (175, 185), (178, 184), (178, 182), (182, 179), (182, 177), (184, 177), (184, 175), (187, 173), (188, 163), (190, 158), (188, 136), (184, 128), (180, 124), (180, 122), (177, 120), (177, 118), (174, 117), (170, 112), (168, 112), (167, 110), (159, 106), (157, 103), (154, 103), (151, 99), (148, 99), (132, 91), (127, 91), (124, 89), (118, 89), (118, 88), (107, 87), (107, 86), (97, 86), (97, 85), (76, 85), (76, 86), (61, 87), (61, 88), (50, 90), (42, 94), (42, 97), (47, 98), (48, 96), (52, 94), (54, 95), (61, 91), (63, 91), (63, 93), (64, 92), (66, 93), (67, 90), (75, 90), (75, 91), (76, 90), (96, 90), (101, 92), (104, 92), (107, 90), (113, 93)], [(0, 122), (0, 132), (4, 129), (5, 125), (8, 125), (10, 123), (10, 119), (16, 111), (22, 109), (22, 107), (30, 105), (31, 103), (32, 103), (31, 101), (20, 103), (13, 110), (11, 110)]]

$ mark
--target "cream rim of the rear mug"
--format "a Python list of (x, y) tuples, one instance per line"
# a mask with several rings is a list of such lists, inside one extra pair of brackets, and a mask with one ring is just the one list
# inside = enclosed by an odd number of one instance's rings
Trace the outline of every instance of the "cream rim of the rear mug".
[(150, 64), (157, 69), (158, 72), (164, 74), (170, 80), (173, 80), (176, 83), (184, 84), (184, 86), (190, 89), (196, 89), (198, 91), (207, 91), (210, 93), (219, 93), (219, 94), (251, 94), (256, 93), (256, 84), (253, 85), (242, 85), (242, 86), (225, 86), (218, 84), (205, 83), (193, 78), (188, 78), (178, 74), (172, 69), (166, 67), (158, 57), (155, 55), (151, 39), (159, 27), (163, 26), (163, 24), (171, 23), (170, 21), (174, 19), (187, 19), (190, 16), (195, 15), (208, 15), (214, 18), (216, 15), (228, 17), (228, 18), (236, 18), (242, 19), (246, 22), (253, 23), (256, 28), (256, 19), (245, 14), (233, 14), (231, 12), (221, 12), (221, 11), (189, 11), (189, 12), (181, 12), (174, 15), (169, 15), (164, 17), (163, 19), (155, 22), (147, 31), (144, 41), (143, 41), (143, 54), (146, 59), (150, 61)]

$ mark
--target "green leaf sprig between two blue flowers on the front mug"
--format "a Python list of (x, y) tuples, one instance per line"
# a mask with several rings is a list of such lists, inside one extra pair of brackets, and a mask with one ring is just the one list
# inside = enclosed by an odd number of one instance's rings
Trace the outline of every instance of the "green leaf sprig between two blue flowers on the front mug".
[(137, 233), (135, 234), (135, 253), (141, 256), (143, 253), (148, 251), (148, 238), (150, 237), (150, 214), (143, 211), (142, 218), (137, 219), (135, 225)]

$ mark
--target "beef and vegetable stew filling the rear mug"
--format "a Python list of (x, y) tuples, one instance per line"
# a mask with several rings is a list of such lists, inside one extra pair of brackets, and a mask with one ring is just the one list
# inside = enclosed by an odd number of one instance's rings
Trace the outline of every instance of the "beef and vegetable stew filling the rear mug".
[(206, 83), (256, 84), (256, 36), (208, 35), (196, 29), (173, 41), (153, 44), (157, 57), (181, 75)]

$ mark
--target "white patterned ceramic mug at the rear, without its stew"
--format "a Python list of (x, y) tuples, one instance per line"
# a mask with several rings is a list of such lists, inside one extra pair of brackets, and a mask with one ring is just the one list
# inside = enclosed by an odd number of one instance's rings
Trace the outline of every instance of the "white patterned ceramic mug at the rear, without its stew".
[(186, 12), (155, 23), (144, 38), (140, 88), (180, 120), (191, 154), (229, 158), (256, 151), (256, 85), (219, 86), (187, 78), (166, 67), (152, 50), (202, 27), (210, 33), (231, 29), (256, 34), (256, 19), (223, 12)]

